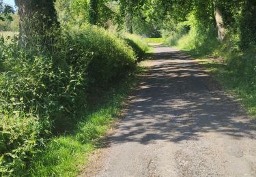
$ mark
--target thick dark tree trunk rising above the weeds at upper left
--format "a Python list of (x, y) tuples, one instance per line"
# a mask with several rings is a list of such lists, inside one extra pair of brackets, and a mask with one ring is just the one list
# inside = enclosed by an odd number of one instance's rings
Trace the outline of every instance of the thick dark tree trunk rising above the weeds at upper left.
[(20, 17), (20, 43), (29, 42), (33, 35), (44, 35), (57, 22), (55, 0), (16, 0)]

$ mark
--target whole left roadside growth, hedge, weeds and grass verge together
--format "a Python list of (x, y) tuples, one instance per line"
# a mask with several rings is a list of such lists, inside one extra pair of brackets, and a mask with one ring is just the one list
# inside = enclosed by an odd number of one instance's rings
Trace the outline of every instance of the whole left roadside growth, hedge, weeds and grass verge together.
[[(1, 10), (4, 24), (13, 20)], [(66, 26), (57, 12), (44, 21), (29, 15), (19, 33), (1, 32), (0, 174), (76, 176), (122, 111), (149, 48), (139, 35), (88, 19)]]

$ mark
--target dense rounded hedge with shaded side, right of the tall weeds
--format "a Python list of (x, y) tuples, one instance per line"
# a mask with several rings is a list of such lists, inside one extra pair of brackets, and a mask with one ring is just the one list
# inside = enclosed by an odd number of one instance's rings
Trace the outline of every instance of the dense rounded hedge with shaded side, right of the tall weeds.
[(76, 42), (87, 48), (89, 63), (87, 77), (90, 84), (107, 87), (124, 78), (134, 69), (136, 57), (127, 44), (113, 33), (98, 27), (73, 29)]

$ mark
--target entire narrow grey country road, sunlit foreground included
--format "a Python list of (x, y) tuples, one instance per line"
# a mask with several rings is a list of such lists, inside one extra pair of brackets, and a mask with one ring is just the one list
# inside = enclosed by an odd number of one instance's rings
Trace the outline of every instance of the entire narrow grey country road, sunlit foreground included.
[(256, 121), (181, 52), (156, 46), (96, 176), (256, 176)]

